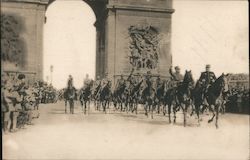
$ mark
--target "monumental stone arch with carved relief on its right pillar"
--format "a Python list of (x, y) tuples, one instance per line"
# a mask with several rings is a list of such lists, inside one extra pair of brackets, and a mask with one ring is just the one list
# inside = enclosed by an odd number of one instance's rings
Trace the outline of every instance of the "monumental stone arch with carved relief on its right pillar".
[[(18, 23), (14, 29), (22, 42), (21, 58), (10, 61), (19, 61), (16, 68), (35, 72), (37, 79), (43, 78), (43, 25), (53, 1), (1, 0), (1, 15)], [(135, 73), (169, 76), (172, 0), (84, 1), (96, 15), (96, 76), (114, 80), (132, 68)], [(8, 65), (3, 68), (9, 70)]]

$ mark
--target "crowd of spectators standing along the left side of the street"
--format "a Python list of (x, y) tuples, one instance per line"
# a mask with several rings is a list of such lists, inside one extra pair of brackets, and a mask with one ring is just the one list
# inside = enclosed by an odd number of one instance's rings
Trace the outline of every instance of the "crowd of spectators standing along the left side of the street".
[(33, 125), (39, 117), (40, 103), (55, 103), (56, 90), (47, 83), (28, 83), (25, 74), (1, 75), (1, 124), (4, 133)]

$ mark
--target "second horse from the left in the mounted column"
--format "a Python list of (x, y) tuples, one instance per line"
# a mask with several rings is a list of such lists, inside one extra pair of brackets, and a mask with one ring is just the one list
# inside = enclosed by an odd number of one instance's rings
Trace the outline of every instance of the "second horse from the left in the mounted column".
[(89, 84), (87, 84), (86, 86), (84, 86), (80, 90), (79, 100), (81, 102), (82, 111), (84, 111), (84, 114), (86, 114), (87, 103), (88, 103), (88, 113), (89, 113), (89, 110), (90, 110), (90, 100), (91, 100), (91, 92), (92, 92), (91, 88), (92, 88), (92, 86), (93, 86), (93, 80), (91, 80)]

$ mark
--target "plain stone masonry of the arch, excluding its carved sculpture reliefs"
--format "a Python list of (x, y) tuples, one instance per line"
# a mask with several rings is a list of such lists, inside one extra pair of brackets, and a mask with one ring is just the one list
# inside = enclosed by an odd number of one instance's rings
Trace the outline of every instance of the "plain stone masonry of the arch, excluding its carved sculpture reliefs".
[[(37, 78), (43, 75), (43, 24), (46, 8), (54, 0), (1, 0), (2, 13), (22, 15), (27, 33), (27, 67)], [(129, 75), (133, 66), (129, 62), (130, 35), (128, 29), (135, 26), (152, 26), (159, 31), (158, 65), (151, 73), (168, 78), (172, 64), (171, 19), (172, 0), (83, 0), (96, 15), (96, 76), (107, 76), (113, 82), (119, 75)], [(150, 37), (150, 36), (149, 36)], [(146, 37), (144, 37), (146, 38)], [(145, 39), (144, 39), (145, 40)], [(145, 47), (144, 47), (145, 48)], [(38, 64), (38, 65), (37, 65)], [(136, 70), (139, 74), (147, 70)]]

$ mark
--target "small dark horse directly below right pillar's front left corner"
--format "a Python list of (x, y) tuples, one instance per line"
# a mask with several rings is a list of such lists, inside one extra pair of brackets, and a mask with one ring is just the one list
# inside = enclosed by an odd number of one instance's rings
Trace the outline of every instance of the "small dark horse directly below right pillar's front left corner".
[(103, 107), (103, 111), (107, 113), (107, 105), (109, 105), (110, 99), (112, 97), (111, 92), (111, 81), (109, 81), (101, 90), (100, 90), (100, 101)]

